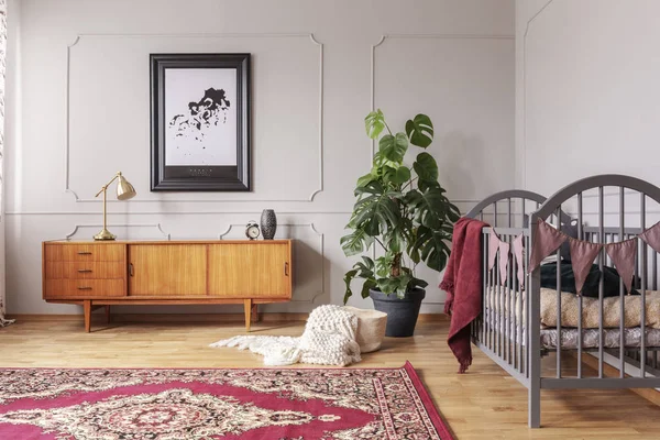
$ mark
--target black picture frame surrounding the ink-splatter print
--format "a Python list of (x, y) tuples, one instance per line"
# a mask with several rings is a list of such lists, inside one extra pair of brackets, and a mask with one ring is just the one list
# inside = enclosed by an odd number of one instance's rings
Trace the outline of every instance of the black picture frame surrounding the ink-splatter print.
[[(151, 54), (151, 190), (250, 191), (250, 54)], [(167, 69), (235, 69), (237, 165), (167, 165)], [(204, 90), (201, 91), (204, 92)], [(199, 97), (201, 100), (206, 98)], [(197, 99), (197, 98), (195, 98)], [(201, 102), (201, 101), (200, 101)], [(194, 102), (190, 102), (193, 105)], [(189, 106), (190, 106), (189, 105)], [(229, 106), (228, 106), (229, 107)], [(199, 125), (197, 125), (199, 128)], [(172, 145), (169, 145), (172, 147)]]

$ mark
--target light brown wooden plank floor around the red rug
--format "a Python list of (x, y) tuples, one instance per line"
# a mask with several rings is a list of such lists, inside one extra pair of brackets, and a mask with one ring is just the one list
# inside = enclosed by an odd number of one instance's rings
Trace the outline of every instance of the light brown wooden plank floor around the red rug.
[[(252, 334), (299, 336), (304, 322), (258, 322)], [(660, 407), (628, 391), (544, 391), (543, 428), (527, 428), (527, 389), (475, 350), (468, 374), (457, 374), (446, 320), (420, 322), (416, 337), (387, 339), (358, 366), (398, 367), (406, 360), (421, 378), (458, 439), (660, 439)], [(241, 322), (110, 323), (19, 321), (0, 329), (0, 366), (258, 367), (261, 358), (209, 349), (244, 334)], [(552, 365), (553, 358), (543, 361)]]

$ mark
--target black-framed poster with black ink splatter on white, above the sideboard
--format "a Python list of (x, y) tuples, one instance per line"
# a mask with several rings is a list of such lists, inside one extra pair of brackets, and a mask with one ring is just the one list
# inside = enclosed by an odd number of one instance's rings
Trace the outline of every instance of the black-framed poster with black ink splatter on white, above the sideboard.
[(250, 54), (151, 55), (152, 191), (250, 190)]

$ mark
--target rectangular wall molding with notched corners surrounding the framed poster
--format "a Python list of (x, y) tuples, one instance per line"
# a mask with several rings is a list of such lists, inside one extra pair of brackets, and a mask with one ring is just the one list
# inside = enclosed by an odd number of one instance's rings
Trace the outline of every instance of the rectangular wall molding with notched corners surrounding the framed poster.
[[(114, 37), (114, 38), (157, 38), (157, 37), (174, 37), (174, 38), (237, 38), (237, 37), (263, 37), (263, 38), (282, 38), (282, 37), (306, 37), (311, 41), (312, 44), (319, 48), (319, 134), (318, 134), (318, 172), (319, 182), (318, 188), (315, 189), (307, 199), (237, 199), (237, 200), (222, 200), (222, 199), (148, 199), (139, 200), (140, 202), (158, 202), (158, 204), (172, 204), (172, 202), (213, 202), (213, 204), (227, 204), (227, 202), (312, 202), (315, 197), (322, 193), (324, 189), (323, 179), (323, 44), (320, 43), (312, 33), (227, 33), (227, 34), (213, 34), (213, 33), (201, 33), (201, 34), (139, 34), (139, 33), (98, 33), (98, 34), (78, 34), (73, 43), (66, 48), (66, 98), (65, 98), (65, 163), (64, 163), (64, 191), (74, 196), (76, 202), (101, 202), (99, 199), (84, 199), (78, 197), (78, 194), (70, 187), (70, 61), (72, 50), (75, 47), (81, 38), (91, 37)], [(109, 204), (114, 204), (118, 200), (108, 200)], [(141, 212), (131, 212), (141, 213)]]

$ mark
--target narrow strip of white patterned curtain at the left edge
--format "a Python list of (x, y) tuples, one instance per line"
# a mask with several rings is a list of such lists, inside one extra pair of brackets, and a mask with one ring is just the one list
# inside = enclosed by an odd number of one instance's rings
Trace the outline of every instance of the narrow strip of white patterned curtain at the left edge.
[(0, 0), (0, 327), (13, 320), (4, 319), (4, 73), (7, 70), (7, 0)]

